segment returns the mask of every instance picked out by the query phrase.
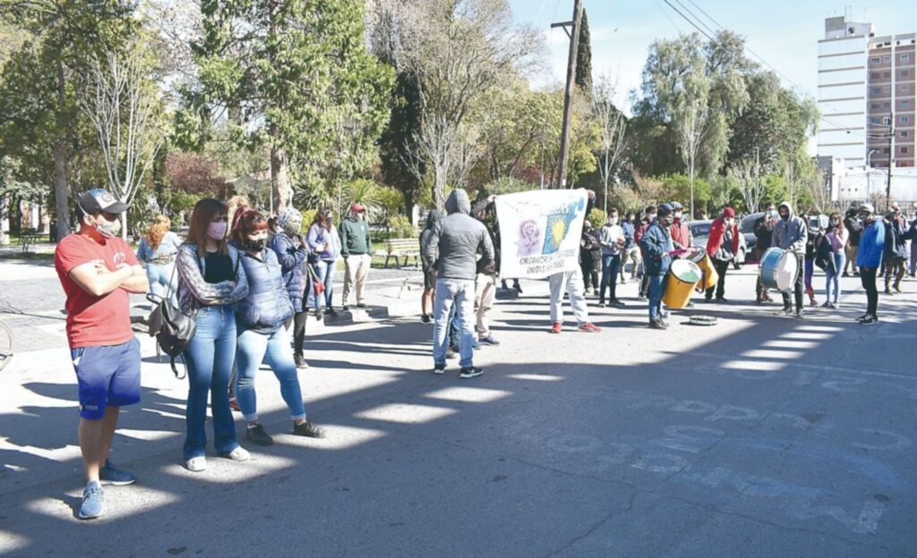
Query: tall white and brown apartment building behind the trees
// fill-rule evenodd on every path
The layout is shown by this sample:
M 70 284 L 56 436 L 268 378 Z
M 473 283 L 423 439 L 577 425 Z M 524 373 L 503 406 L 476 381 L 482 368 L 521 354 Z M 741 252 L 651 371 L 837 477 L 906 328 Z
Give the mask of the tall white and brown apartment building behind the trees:
M 876 37 L 872 24 L 824 20 L 818 41 L 818 155 L 845 159 L 848 168 L 914 166 L 914 34 Z

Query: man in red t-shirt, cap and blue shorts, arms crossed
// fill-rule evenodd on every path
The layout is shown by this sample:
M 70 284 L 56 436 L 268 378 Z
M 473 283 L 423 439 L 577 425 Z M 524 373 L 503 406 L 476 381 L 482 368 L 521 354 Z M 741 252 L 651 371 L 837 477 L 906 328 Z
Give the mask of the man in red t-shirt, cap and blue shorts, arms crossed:
M 122 405 L 140 400 L 140 344 L 130 328 L 131 292 L 149 289 L 130 245 L 117 237 L 127 204 L 94 189 L 77 201 L 80 230 L 54 253 L 67 295 L 67 338 L 80 394 L 80 450 L 86 472 L 80 519 L 105 511 L 102 483 L 129 485 L 137 477 L 108 461 Z

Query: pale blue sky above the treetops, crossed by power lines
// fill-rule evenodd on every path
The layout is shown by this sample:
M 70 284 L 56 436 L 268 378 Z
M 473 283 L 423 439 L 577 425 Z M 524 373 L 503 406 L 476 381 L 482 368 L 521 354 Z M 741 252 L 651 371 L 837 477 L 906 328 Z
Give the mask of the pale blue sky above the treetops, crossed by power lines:
M 669 0 L 679 6 L 675 0 Z M 785 74 L 784 84 L 816 93 L 817 41 L 824 35 L 824 18 L 843 16 L 849 4 L 828 0 L 692 0 L 723 27 L 746 37 L 746 45 Z M 545 29 L 549 68 L 533 84 L 562 83 L 569 42 L 562 29 L 550 29 L 552 21 L 569 20 L 573 0 L 509 0 L 517 21 Z M 680 0 L 695 14 L 700 10 Z M 618 104 L 638 88 L 646 51 L 656 38 L 674 38 L 693 27 L 663 0 L 583 0 L 589 14 L 593 74 L 618 76 Z M 679 6 L 680 9 L 680 6 Z M 917 0 L 873 0 L 852 5 L 851 19 L 871 22 L 877 36 L 917 32 Z M 703 16 L 702 16 L 703 17 Z M 709 20 L 707 25 L 714 27 Z M 714 27 L 715 28 L 715 27 Z M 627 110 L 627 107 L 625 107 Z

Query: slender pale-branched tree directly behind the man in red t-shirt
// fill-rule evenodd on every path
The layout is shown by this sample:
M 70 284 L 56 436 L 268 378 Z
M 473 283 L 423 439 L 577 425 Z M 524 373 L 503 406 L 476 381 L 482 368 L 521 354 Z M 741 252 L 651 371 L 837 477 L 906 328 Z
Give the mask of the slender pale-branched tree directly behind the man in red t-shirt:
M 95 127 L 108 186 L 127 204 L 137 193 L 156 155 L 165 130 L 157 126 L 161 111 L 154 83 L 135 44 L 125 53 L 105 53 L 90 72 L 94 91 L 80 99 L 80 107 Z M 127 213 L 121 213 L 121 235 L 127 239 Z

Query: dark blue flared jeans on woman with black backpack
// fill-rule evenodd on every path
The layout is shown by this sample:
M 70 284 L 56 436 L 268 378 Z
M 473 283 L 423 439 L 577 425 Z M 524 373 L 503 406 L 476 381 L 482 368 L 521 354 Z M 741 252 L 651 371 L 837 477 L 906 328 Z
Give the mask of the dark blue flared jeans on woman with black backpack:
M 197 331 L 184 352 L 188 365 L 188 404 L 184 422 L 184 459 L 204 455 L 207 394 L 214 415 L 214 446 L 226 455 L 238 447 L 236 425 L 229 410 L 229 377 L 236 356 L 236 317 L 229 306 L 204 306 L 197 311 Z

